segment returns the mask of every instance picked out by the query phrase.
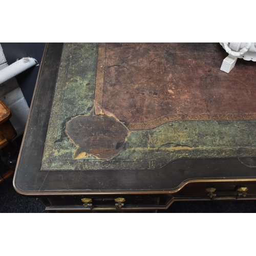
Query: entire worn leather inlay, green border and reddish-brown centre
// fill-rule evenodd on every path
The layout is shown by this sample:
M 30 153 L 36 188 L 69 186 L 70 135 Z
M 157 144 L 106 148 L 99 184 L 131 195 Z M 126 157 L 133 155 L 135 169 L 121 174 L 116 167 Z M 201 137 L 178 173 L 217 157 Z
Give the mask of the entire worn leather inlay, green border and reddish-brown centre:
M 255 156 L 255 63 L 226 74 L 226 55 L 218 44 L 65 44 L 41 169 Z

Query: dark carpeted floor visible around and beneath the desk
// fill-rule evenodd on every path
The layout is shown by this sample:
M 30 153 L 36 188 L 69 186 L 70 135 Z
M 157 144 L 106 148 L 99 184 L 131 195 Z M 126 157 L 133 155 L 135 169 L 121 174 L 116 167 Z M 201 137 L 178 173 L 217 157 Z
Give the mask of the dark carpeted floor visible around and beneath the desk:
M 17 141 L 20 143 L 22 138 Z M 0 160 L 0 175 L 9 168 Z M 0 184 L 0 212 L 46 212 L 36 198 L 19 195 L 12 186 L 12 177 Z M 174 202 L 158 212 L 256 212 L 256 200 Z

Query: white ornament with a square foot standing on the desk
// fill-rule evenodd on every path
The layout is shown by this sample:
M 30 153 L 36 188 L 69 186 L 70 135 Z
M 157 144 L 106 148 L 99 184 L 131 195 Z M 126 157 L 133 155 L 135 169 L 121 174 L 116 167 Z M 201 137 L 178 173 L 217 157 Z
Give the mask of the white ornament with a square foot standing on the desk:
M 223 60 L 221 70 L 229 73 L 236 65 L 238 58 L 256 61 L 256 42 L 220 42 L 228 53 Z

